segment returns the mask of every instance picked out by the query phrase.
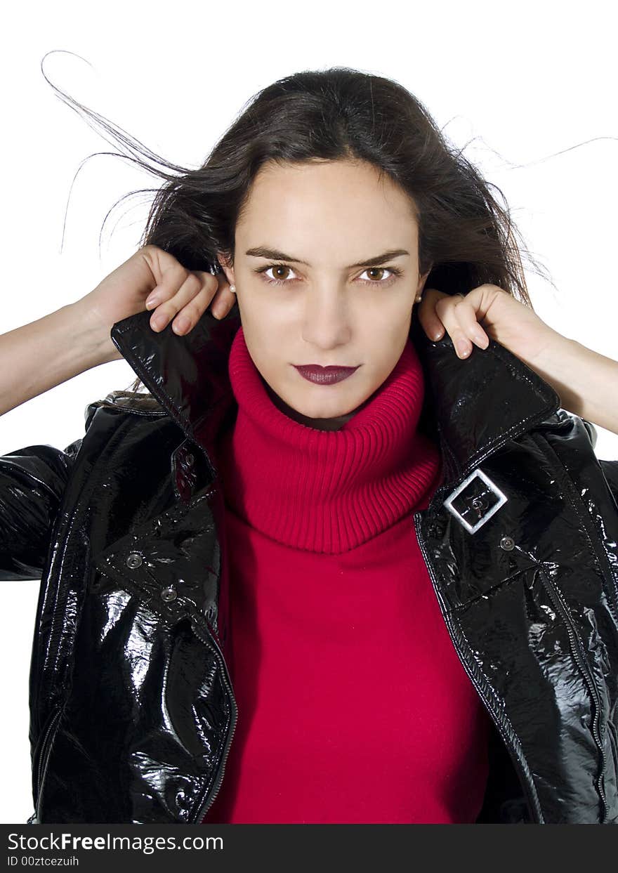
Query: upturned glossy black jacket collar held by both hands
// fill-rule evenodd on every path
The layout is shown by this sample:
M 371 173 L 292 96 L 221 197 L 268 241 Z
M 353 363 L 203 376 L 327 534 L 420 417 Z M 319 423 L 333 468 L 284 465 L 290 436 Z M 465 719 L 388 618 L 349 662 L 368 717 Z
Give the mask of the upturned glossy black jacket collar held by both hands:
M 218 427 L 234 402 L 228 358 L 240 326 L 237 305 L 223 320 L 207 310 L 185 336 L 169 325 L 155 333 L 151 314 L 116 322 L 113 344 L 185 434 L 206 448 L 212 464 Z M 448 334 L 429 340 L 417 319 L 410 337 L 426 384 L 419 427 L 440 444 L 447 485 L 560 408 L 554 389 L 495 340 L 461 360 Z

